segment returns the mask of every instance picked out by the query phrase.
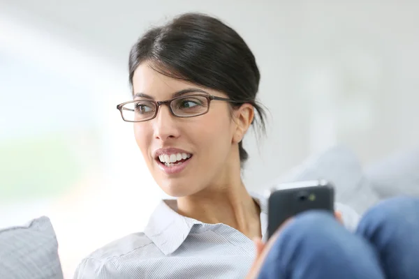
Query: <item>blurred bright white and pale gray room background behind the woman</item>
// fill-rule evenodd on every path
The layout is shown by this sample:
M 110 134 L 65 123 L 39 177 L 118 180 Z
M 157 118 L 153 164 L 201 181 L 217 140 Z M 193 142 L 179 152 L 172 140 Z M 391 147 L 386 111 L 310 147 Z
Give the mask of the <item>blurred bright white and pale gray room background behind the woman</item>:
M 0 227 L 50 217 L 66 278 L 163 197 L 116 105 L 131 45 L 189 11 L 256 56 L 270 117 L 244 140 L 249 190 L 338 143 L 368 164 L 419 142 L 419 1 L 0 0 Z

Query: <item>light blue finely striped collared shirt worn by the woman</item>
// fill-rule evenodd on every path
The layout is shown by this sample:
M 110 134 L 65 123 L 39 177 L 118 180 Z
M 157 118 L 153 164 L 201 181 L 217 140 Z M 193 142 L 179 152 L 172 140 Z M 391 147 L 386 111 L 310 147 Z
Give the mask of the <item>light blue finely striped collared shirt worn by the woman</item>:
M 267 201 L 256 196 L 253 199 L 260 206 L 265 236 Z M 176 207 L 176 200 L 162 201 L 144 232 L 96 250 L 82 260 L 74 278 L 245 278 L 256 255 L 253 241 L 228 225 L 181 216 Z M 354 212 L 344 209 L 342 214 L 349 223 L 355 220 Z

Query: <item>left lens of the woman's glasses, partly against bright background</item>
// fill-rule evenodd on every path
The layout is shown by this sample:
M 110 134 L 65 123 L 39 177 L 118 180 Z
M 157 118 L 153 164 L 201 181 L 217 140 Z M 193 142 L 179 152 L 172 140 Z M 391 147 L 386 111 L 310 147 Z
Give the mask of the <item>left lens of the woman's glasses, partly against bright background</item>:
M 125 104 L 122 115 L 126 121 L 145 121 L 152 119 L 156 113 L 156 105 L 147 100 Z

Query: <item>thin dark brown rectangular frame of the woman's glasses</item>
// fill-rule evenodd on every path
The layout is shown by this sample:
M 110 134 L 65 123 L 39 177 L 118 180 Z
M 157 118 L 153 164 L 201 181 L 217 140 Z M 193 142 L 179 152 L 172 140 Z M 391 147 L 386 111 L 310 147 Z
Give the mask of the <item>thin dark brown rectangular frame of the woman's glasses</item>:
M 171 107 L 170 104 L 174 100 L 178 100 L 178 99 L 181 99 L 181 98 L 187 98 L 187 97 L 204 97 L 204 98 L 206 98 L 208 100 L 207 110 L 205 112 L 203 112 L 203 113 L 192 115 L 192 116 L 178 116 L 178 115 L 176 115 L 175 112 L 173 112 L 172 107 Z M 167 105 L 168 108 L 169 108 L 170 114 L 172 114 L 172 116 L 179 117 L 179 118 L 189 118 L 189 117 L 200 116 L 200 115 L 203 115 L 203 114 L 206 114 L 207 112 L 209 112 L 210 111 L 210 105 L 211 105 L 211 101 L 212 100 L 221 100 L 221 101 L 224 101 L 224 102 L 235 103 L 235 104 L 242 103 L 242 102 L 238 102 L 238 101 L 235 101 L 235 100 L 231 100 L 229 98 L 222 98 L 222 97 L 208 95 L 208 94 L 193 94 L 193 95 L 187 95 L 187 96 L 179 96 L 179 97 L 172 98 L 170 100 L 160 100 L 160 101 L 147 100 L 147 102 L 154 103 L 154 105 L 156 106 L 156 111 L 154 112 L 154 116 L 152 118 L 149 118 L 149 119 L 146 119 L 146 120 L 140 120 L 140 121 L 130 121 L 130 120 L 124 119 L 124 114 L 123 114 L 122 110 L 128 110 L 128 109 L 124 108 L 124 105 L 129 104 L 129 103 L 137 103 L 137 102 L 140 102 L 141 100 L 130 100 L 128 102 L 121 103 L 121 104 L 117 105 L 117 110 L 119 110 L 119 112 L 121 113 L 122 120 L 124 120 L 126 122 L 134 122 L 134 123 L 137 123 L 137 122 L 145 122 L 145 121 L 149 121 L 149 120 L 155 119 L 156 116 L 157 116 L 157 114 L 159 113 L 159 107 L 161 105 Z

